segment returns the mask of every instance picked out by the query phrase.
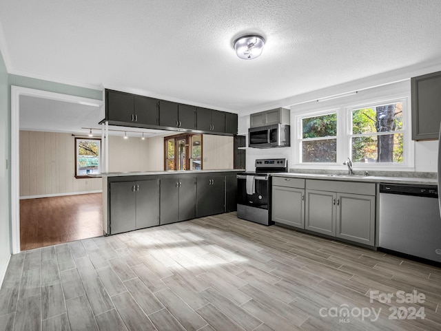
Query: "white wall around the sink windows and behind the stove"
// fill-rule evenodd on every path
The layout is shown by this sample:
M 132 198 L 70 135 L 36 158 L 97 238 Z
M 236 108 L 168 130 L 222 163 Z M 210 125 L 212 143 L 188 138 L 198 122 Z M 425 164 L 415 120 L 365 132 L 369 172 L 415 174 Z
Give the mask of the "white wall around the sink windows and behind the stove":
M 409 97 L 409 109 L 410 111 L 410 95 L 411 87 L 410 80 L 401 81 L 389 85 L 383 85 L 380 87 L 373 87 L 371 89 L 365 89 L 354 96 L 347 96 L 344 98 L 336 98 L 322 103 L 317 101 L 311 101 L 309 103 L 302 103 L 300 105 L 291 106 L 291 147 L 281 149 L 247 149 L 247 170 L 254 170 L 254 161 L 256 158 L 287 158 L 288 166 L 290 169 L 307 169 L 311 166 L 305 166 L 301 164 L 295 164 L 296 145 L 294 142 L 294 135 L 296 134 L 296 122 L 294 117 L 296 114 L 307 114 L 311 111 L 318 111 L 320 109 L 338 109 L 345 105 L 345 107 L 356 106 L 362 103 L 371 102 L 373 100 L 387 100 L 388 98 L 396 98 L 398 96 Z M 239 117 L 239 132 L 240 134 L 247 133 L 249 128 L 249 114 Z M 411 120 L 411 116 L 409 116 Z M 409 122 L 409 133 L 411 130 L 411 123 Z M 248 144 L 248 142 L 247 142 Z M 421 141 L 410 142 L 413 150 L 413 160 L 409 164 L 409 168 L 402 169 L 404 171 L 422 171 L 422 172 L 436 172 L 438 162 L 438 140 L 435 141 Z M 342 162 L 341 162 L 342 163 Z M 321 164 L 315 167 L 320 169 L 338 169 L 345 171 L 346 166 L 338 164 L 332 167 L 326 167 Z M 385 169 L 384 169 L 385 170 Z M 397 169 L 390 169 L 397 170 Z

